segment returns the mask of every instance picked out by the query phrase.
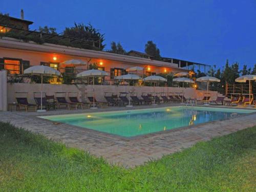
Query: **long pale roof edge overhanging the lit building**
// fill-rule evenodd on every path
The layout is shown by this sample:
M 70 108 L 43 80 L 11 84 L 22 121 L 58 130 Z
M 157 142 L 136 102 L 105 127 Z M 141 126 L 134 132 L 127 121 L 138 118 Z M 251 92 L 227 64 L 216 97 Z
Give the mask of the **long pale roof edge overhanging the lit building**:
M 87 49 L 79 49 L 55 44 L 36 44 L 33 41 L 24 42 L 23 40 L 3 37 L 0 39 L 0 47 L 9 48 L 9 49 L 19 49 L 19 50 L 27 50 L 27 51 L 37 51 L 37 52 L 46 52 L 46 53 L 55 53 L 55 54 L 66 54 L 71 56 L 78 57 L 88 57 L 88 58 L 98 58 L 98 59 L 107 59 L 107 60 L 115 60 L 122 62 L 129 62 L 136 65 L 152 65 L 157 67 L 167 67 L 173 68 L 182 71 L 189 71 L 186 69 L 178 68 L 176 63 L 163 62 L 158 60 L 151 60 L 147 58 L 140 58 L 128 55 L 120 55 L 115 53 L 108 53 L 104 51 L 95 51 L 95 50 L 87 50 Z

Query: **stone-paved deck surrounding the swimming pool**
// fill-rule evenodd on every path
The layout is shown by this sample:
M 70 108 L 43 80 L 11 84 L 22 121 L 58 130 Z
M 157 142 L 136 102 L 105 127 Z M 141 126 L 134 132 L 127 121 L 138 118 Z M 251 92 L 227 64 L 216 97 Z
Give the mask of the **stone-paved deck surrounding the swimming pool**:
M 254 109 L 254 113 L 244 114 L 237 118 L 190 125 L 176 130 L 157 132 L 129 139 L 94 130 L 82 129 L 69 124 L 56 124 L 47 119 L 37 117 L 44 115 L 159 108 L 165 106 L 175 105 L 134 106 L 129 109 L 125 107 L 110 107 L 96 110 L 57 110 L 42 113 L 0 112 L 0 118 L 1 121 L 10 122 L 15 126 L 24 127 L 26 130 L 44 134 L 50 139 L 63 142 L 70 147 L 78 147 L 82 150 L 89 151 L 95 156 L 102 156 L 109 163 L 124 167 L 141 165 L 148 160 L 159 159 L 163 155 L 190 147 L 198 141 L 207 141 L 214 137 L 227 135 L 256 125 L 256 110 Z

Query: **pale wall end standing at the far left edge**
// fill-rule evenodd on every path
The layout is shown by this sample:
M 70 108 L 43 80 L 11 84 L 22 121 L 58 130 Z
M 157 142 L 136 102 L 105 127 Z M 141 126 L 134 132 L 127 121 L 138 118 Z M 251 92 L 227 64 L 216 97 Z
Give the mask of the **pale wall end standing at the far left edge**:
M 0 71 L 0 111 L 7 111 L 7 71 Z

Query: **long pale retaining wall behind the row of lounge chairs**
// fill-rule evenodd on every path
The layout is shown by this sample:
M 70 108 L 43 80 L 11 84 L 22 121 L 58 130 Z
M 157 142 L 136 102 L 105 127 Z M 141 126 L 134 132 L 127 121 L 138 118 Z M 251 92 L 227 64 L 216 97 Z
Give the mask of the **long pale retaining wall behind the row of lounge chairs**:
M 15 102 L 15 97 L 28 97 L 29 102 L 34 103 L 34 92 L 40 92 L 41 84 L 35 83 L 7 83 L 7 92 L 8 92 L 8 103 Z M 129 89 L 134 94 L 137 93 L 138 96 L 141 93 L 149 93 L 149 92 L 158 92 L 158 93 L 176 93 L 182 92 L 182 88 L 174 88 L 174 87 L 133 87 L 131 86 L 101 86 L 95 85 L 95 96 L 98 101 L 105 101 L 104 93 L 105 92 L 113 92 L 119 95 L 119 92 L 128 92 Z M 15 93 L 15 92 L 28 92 L 26 93 Z M 92 85 L 68 85 L 68 84 L 43 84 L 43 92 L 48 95 L 65 95 L 56 92 L 75 92 L 78 93 L 78 97 L 82 101 L 87 100 L 87 96 L 93 96 L 93 86 Z M 206 91 L 196 90 L 194 88 L 184 88 L 184 96 L 186 98 L 197 98 L 201 99 L 204 96 Z M 209 92 L 212 98 L 217 96 L 217 92 Z M 71 93 L 70 95 L 75 95 Z M 36 93 L 36 96 L 40 96 L 39 93 Z

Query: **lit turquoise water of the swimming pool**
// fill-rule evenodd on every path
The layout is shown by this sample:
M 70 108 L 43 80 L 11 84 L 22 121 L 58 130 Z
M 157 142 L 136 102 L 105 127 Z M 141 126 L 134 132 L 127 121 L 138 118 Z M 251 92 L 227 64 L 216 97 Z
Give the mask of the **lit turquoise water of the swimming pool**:
M 123 137 L 133 137 L 228 119 L 251 112 L 253 111 L 243 109 L 172 106 L 144 110 L 41 116 L 40 118 Z

